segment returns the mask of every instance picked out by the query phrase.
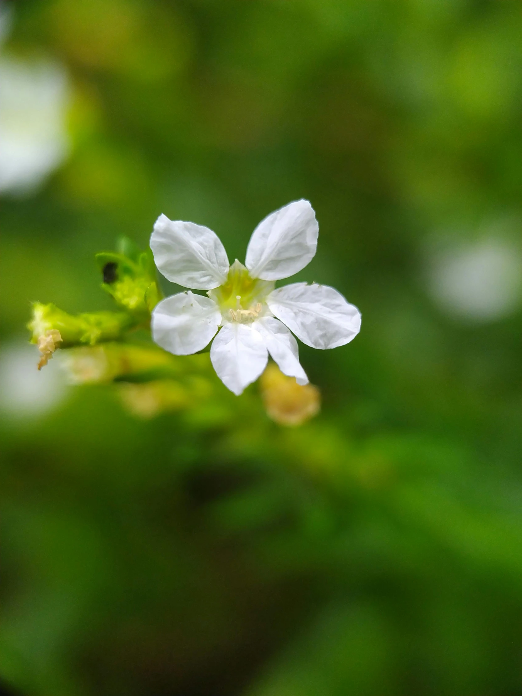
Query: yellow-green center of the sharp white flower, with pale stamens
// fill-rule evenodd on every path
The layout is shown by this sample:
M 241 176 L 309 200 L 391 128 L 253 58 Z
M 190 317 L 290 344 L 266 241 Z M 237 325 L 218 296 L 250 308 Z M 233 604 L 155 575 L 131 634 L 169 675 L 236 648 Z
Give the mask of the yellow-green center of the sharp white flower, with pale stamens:
M 251 278 L 248 269 L 236 259 L 225 283 L 207 294 L 219 304 L 223 319 L 246 323 L 253 322 L 262 314 L 266 307 L 264 300 L 272 290 L 274 283 Z

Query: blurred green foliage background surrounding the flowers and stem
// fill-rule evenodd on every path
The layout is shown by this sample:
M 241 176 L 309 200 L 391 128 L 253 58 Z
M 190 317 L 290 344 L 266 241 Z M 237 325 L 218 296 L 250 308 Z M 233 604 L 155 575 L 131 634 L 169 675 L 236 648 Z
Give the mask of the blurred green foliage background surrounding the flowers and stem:
M 521 694 L 522 314 L 451 317 L 423 275 L 438 230 L 519 235 L 520 3 L 15 5 L 4 50 L 65 64 L 73 146 L 2 199 L 3 342 L 29 300 L 111 309 L 94 254 L 145 248 L 161 212 L 243 260 L 296 198 L 320 228 L 296 279 L 363 329 L 300 347 L 323 409 L 296 429 L 255 386 L 219 418 L 134 420 L 102 387 L 3 418 L 0 676 L 27 696 Z

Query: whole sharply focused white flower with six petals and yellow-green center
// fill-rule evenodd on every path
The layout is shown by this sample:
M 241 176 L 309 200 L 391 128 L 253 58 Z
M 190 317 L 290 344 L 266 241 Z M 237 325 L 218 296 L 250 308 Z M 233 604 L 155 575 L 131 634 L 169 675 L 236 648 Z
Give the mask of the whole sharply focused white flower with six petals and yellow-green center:
M 294 283 L 274 290 L 274 281 L 313 259 L 318 234 L 312 206 L 296 200 L 255 228 L 245 266 L 238 260 L 230 266 L 212 230 L 160 215 L 150 237 L 159 271 L 173 283 L 208 292 L 162 300 L 152 313 L 155 342 L 175 355 L 189 355 L 203 350 L 219 330 L 210 359 L 237 395 L 258 379 L 268 354 L 297 383 L 308 383 L 289 329 L 306 345 L 325 349 L 345 345 L 361 328 L 358 309 L 333 287 Z

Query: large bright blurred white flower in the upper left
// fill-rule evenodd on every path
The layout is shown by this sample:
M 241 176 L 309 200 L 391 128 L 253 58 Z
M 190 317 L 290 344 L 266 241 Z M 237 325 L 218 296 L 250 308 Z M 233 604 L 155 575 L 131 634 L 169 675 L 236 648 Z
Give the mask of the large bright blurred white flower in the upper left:
M 11 17 L 0 5 L 0 44 Z M 65 159 L 67 106 L 60 65 L 0 57 L 0 193 L 31 191 Z

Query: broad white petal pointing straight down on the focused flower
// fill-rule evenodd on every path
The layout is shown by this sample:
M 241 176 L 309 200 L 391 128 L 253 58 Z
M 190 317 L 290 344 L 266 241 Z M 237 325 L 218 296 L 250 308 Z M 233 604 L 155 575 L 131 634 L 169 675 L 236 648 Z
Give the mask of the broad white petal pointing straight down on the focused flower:
M 268 353 L 259 331 L 230 322 L 214 338 L 210 359 L 219 379 L 239 396 L 267 366 Z

